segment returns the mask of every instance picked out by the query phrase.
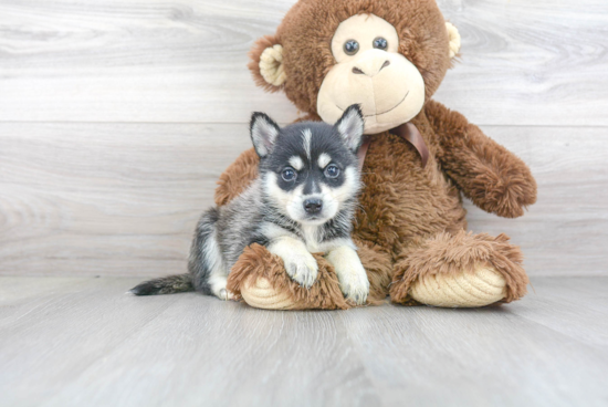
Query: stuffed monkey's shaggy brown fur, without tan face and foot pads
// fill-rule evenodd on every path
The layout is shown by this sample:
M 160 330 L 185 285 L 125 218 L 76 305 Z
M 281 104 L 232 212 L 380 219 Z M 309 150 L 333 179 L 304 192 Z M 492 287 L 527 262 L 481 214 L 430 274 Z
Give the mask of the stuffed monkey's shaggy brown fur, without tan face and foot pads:
M 300 109 L 318 119 L 317 93 L 335 63 L 332 35 L 343 20 L 357 13 L 374 13 L 392 23 L 400 39 L 399 52 L 421 72 L 427 103 L 411 122 L 430 150 L 422 168 L 419 154 L 408 143 L 388 132 L 371 136 L 354 230 L 371 302 L 381 301 L 390 291 L 395 302 L 412 304 L 408 290 L 420 275 L 469 272 L 474 264 L 489 264 L 505 276 L 505 302 L 521 298 L 527 276 L 518 248 L 504 234 L 465 233 L 461 196 L 486 211 L 514 218 L 536 200 L 536 182 L 521 159 L 459 113 L 430 100 L 450 66 L 444 20 L 433 0 L 301 0 L 276 35 L 254 45 L 250 67 L 256 83 L 269 90 L 256 67 L 258 59 L 269 44 L 282 44 L 287 75 L 283 90 Z M 256 164 L 258 157 L 249 150 L 227 169 L 216 194 L 218 205 L 249 185 Z M 298 307 L 346 307 L 331 265 L 318 259 L 323 272 L 306 292 L 258 247 L 241 257 L 229 289 L 239 292 L 247 279 L 266 275 L 276 288 L 292 293 Z

